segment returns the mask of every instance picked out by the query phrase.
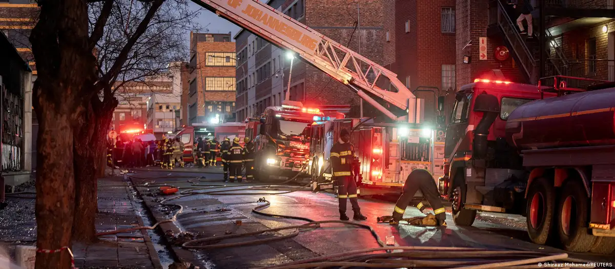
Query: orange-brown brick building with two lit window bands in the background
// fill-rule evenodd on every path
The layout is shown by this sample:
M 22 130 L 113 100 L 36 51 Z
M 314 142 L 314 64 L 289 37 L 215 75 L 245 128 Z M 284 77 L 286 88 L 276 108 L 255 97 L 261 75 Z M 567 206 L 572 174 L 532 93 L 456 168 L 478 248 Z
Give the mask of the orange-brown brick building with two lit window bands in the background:
M 231 34 L 190 34 L 188 124 L 234 121 L 235 43 Z

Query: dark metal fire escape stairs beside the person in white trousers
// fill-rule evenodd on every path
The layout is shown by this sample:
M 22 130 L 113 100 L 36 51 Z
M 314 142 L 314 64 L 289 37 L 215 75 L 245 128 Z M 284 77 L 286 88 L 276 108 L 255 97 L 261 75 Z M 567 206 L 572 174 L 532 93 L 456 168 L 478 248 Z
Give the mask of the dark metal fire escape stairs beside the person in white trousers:
M 528 82 L 531 84 L 538 84 L 540 74 L 538 32 L 534 31 L 535 42 L 526 41 L 526 36 L 520 34 L 518 31 L 517 18 L 509 14 L 509 10 L 511 10 L 512 7 L 509 9 L 509 7 L 507 7 L 508 5 L 504 4 L 501 0 L 491 1 L 490 4 L 492 5 L 490 7 L 490 25 L 499 29 L 507 47 L 514 53 L 515 60 L 520 70 L 523 72 L 523 75 L 528 79 Z M 526 6 L 529 5 L 526 4 Z M 537 29 L 537 27 L 534 27 L 534 29 Z M 548 29 L 545 34 L 547 37 L 547 44 L 553 44 L 552 47 L 557 55 L 557 58 L 550 57 L 550 62 L 552 64 L 550 66 L 552 66 L 553 69 L 547 71 L 547 73 L 562 75 L 564 73 L 563 68 L 568 66 L 568 61 L 560 49 L 561 44 L 557 42 Z M 549 49 L 549 46 L 547 46 L 547 49 Z M 547 52 L 547 55 L 551 54 L 550 51 Z

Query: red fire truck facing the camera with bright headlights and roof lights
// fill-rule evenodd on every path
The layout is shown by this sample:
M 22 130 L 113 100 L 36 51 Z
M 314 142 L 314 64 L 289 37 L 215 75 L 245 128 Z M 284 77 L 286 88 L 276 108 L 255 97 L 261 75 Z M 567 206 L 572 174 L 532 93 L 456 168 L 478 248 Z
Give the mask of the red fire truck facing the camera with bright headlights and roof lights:
M 308 171 L 310 127 L 330 119 L 317 108 L 301 102 L 284 101 L 270 106 L 258 119 L 247 119 L 245 136 L 255 147 L 255 173 L 259 179 L 286 179 Z

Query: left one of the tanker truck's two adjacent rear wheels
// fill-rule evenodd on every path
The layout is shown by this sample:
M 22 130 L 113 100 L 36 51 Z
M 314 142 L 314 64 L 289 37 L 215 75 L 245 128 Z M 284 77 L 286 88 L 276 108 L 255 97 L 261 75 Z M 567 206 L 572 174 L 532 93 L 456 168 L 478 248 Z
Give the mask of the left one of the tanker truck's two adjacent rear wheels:
M 528 235 L 532 242 L 545 244 L 554 234 L 555 188 L 544 177 L 531 182 L 526 206 Z

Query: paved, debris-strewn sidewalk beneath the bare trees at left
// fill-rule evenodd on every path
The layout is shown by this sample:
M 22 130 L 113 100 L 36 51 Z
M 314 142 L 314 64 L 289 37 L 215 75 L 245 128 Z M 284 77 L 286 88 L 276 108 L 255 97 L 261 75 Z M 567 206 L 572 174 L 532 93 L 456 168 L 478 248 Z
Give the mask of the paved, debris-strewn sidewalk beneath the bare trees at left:
M 108 177 L 98 181 L 97 232 L 119 230 L 143 225 L 138 209 L 132 205 L 132 194 L 123 177 Z M 31 187 L 28 191 L 33 191 Z M 33 197 L 33 195 L 24 195 Z M 15 262 L 15 246 L 36 244 L 34 199 L 7 197 L 9 206 L 0 211 L 0 255 Z M 89 246 L 73 244 L 75 266 L 78 268 L 162 268 L 156 250 L 143 231 L 101 236 Z

